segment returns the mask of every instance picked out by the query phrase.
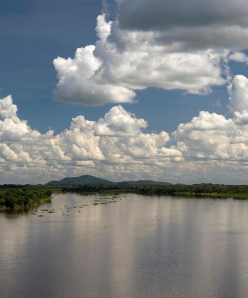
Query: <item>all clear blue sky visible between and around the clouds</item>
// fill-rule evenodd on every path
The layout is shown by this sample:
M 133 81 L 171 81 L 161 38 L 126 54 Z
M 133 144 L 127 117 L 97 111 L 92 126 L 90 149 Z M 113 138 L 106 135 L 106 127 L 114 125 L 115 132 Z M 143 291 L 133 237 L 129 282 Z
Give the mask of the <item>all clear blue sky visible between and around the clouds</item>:
M 0 3 L 0 96 L 12 94 L 20 118 L 41 132 L 51 127 L 59 133 L 78 114 L 97 120 L 113 106 L 83 107 L 53 99 L 57 83 L 53 59 L 73 57 L 76 48 L 95 43 L 96 17 L 101 10 L 100 0 Z M 234 70 L 247 73 L 241 64 Z M 216 100 L 221 107 L 214 106 Z M 149 131 L 172 132 L 201 110 L 227 113 L 227 102 L 226 86 L 214 88 L 207 96 L 148 88 L 137 93 L 137 103 L 124 107 L 146 119 Z

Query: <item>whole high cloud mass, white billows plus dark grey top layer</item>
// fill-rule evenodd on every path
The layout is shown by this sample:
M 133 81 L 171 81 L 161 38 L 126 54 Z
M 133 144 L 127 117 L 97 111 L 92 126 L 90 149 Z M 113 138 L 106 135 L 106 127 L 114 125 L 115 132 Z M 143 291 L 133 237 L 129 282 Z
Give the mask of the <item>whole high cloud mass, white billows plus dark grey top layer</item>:
M 54 60 L 55 98 L 83 105 L 132 102 L 147 87 L 206 94 L 229 81 L 228 58 L 248 63 L 246 0 L 117 0 L 97 17 L 95 45 Z

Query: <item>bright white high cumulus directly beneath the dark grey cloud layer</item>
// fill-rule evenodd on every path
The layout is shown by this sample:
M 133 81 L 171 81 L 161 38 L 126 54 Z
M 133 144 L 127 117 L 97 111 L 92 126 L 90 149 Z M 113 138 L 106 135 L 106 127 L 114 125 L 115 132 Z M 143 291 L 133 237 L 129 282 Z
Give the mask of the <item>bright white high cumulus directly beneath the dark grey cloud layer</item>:
M 96 44 L 78 48 L 74 58 L 54 60 L 59 80 L 55 98 L 94 106 L 133 102 L 135 90 L 147 87 L 206 94 L 211 86 L 225 83 L 223 63 L 232 49 L 230 45 L 223 44 L 216 50 L 210 42 L 212 28 L 204 37 L 199 28 L 191 33 L 170 30 L 126 30 L 119 25 L 119 18 L 107 21 L 105 14 L 99 15 Z M 238 33 L 232 35 L 237 37 Z M 220 32 L 216 41 L 222 36 Z M 209 40 L 208 46 L 192 50 L 199 39 Z M 233 44 L 239 48 L 237 41 Z

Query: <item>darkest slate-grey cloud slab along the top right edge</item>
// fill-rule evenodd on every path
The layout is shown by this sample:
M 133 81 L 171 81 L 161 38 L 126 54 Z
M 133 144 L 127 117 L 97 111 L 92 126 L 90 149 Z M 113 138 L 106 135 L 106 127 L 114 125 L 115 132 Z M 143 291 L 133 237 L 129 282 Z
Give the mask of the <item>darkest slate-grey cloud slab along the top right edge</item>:
M 117 0 L 122 27 L 165 30 L 203 25 L 248 25 L 246 0 Z

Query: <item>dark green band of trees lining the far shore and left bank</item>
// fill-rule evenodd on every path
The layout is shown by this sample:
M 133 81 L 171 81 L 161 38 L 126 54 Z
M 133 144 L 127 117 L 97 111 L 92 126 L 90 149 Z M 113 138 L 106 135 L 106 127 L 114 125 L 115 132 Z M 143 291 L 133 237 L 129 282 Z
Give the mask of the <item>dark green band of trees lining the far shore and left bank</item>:
M 27 207 L 51 200 L 53 190 L 63 192 L 131 192 L 154 195 L 210 195 L 248 199 L 248 185 L 175 184 L 175 185 L 0 185 L 0 210 Z

